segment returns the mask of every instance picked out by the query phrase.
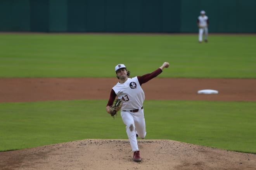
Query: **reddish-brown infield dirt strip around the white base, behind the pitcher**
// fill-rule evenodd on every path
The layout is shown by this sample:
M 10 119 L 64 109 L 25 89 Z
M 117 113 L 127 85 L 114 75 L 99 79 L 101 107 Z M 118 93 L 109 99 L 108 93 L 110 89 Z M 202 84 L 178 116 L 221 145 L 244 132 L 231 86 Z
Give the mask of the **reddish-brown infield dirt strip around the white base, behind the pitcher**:
M 117 78 L 0 78 L 0 102 L 108 99 Z M 142 85 L 146 99 L 256 101 L 256 79 L 155 78 Z M 198 90 L 218 94 L 197 94 Z

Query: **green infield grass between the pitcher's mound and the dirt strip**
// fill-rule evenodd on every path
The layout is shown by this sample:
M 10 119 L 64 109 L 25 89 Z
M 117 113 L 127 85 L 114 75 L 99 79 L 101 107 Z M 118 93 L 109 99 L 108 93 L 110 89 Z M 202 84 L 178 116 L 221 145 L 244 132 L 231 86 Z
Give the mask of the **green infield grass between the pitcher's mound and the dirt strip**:
M 120 115 L 112 119 L 105 111 L 106 103 L 0 103 L 0 151 L 80 139 L 127 139 Z M 146 100 L 146 139 L 256 153 L 255 108 L 256 102 Z

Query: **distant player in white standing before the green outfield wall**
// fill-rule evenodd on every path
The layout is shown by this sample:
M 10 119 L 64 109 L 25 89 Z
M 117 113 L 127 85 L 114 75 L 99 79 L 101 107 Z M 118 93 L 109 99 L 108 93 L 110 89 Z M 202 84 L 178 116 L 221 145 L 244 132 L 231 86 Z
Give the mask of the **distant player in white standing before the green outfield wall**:
M 203 34 L 204 34 L 204 41 L 208 42 L 208 25 L 209 25 L 209 19 L 205 15 L 205 11 L 202 10 L 200 12 L 200 16 L 197 18 L 197 25 L 199 27 L 199 43 L 202 42 Z

